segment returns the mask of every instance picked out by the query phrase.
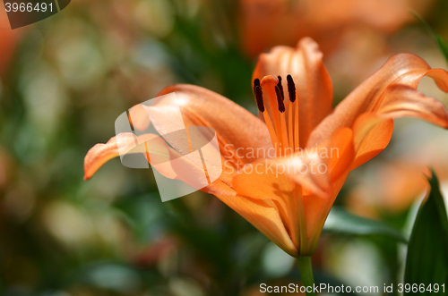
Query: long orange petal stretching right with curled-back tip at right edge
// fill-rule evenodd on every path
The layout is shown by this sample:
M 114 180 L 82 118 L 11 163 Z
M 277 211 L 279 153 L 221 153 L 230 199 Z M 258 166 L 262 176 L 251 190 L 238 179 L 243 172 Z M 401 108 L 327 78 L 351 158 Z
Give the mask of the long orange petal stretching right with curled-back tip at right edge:
M 352 127 L 358 116 L 365 113 L 379 114 L 383 118 L 414 116 L 446 127 L 444 106 L 434 98 L 425 97 L 415 90 L 424 76 L 433 78 L 440 89 L 448 91 L 446 71 L 431 70 L 417 55 L 393 55 L 315 128 L 307 146 L 312 147 L 322 142 L 341 127 Z M 372 139 L 377 138 L 372 134 L 371 136 Z M 390 135 L 383 132 L 382 138 L 384 137 L 390 138 Z

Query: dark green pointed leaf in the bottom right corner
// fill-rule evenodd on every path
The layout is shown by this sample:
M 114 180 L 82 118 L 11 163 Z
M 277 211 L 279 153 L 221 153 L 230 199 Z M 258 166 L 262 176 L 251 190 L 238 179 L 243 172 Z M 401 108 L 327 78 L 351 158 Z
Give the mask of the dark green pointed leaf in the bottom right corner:
M 448 283 L 448 217 L 434 172 L 429 184 L 409 239 L 404 283 L 411 285 Z

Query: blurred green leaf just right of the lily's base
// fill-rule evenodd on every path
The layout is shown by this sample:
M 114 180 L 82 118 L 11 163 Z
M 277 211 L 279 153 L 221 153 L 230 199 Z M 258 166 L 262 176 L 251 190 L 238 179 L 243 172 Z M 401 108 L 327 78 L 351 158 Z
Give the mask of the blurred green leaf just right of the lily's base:
M 392 226 L 380 221 L 355 216 L 341 207 L 332 208 L 323 226 L 323 232 L 349 235 L 385 235 L 397 241 L 408 242 Z

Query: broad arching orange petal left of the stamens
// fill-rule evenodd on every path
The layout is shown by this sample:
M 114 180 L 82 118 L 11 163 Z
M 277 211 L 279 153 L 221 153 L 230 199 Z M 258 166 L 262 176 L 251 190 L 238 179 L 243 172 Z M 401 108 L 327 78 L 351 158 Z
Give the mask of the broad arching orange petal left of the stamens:
M 272 148 L 266 124 L 228 98 L 211 90 L 186 84 L 169 86 L 159 96 L 172 92 L 176 93 L 176 102 L 172 97 L 158 97 L 158 101 L 147 107 L 151 123 L 161 134 L 161 131 L 172 125 L 170 117 L 177 112 L 173 106 L 179 106 L 186 127 L 207 126 L 216 131 L 221 155 L 227 160 L 233 159 L 234 164 L 248 164 L 259 158 L 256 154 L 249 154 L 250 150 Z M 175 140 L 166 140 L 177 149 Z

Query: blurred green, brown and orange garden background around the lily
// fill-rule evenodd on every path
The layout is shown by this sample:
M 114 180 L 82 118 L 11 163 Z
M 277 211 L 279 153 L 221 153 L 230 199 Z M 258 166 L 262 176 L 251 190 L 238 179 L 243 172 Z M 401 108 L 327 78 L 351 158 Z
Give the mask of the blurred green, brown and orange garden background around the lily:
M 18 30 L 7 29 L 2 5 L 6 296 L 255 296 L 260 283 L 299 283 L 294 258 L 219 199 L 195 192 L 162 203 L 151 170 L 119 159 L 84 182 L 83 157 L 115 135 L 119 114 L 173 83 L 200 85 L 256 113 L 257 55 L 301 37 L 320 44 L 335 104 L 395 53 L 447 66 L 409 13 L 448 38 L 444 0 L 73 0 Z M 448 106 L 432 80 L 419 89 Z M 414 119 L 395 123 L 390 146 L 350 173 L 337 204 L 409 233 L 428 165 L 448 191 L 448 133 Z M 381 237 L 324 234 L 316 281 L 398 283 L 404 255 Z

